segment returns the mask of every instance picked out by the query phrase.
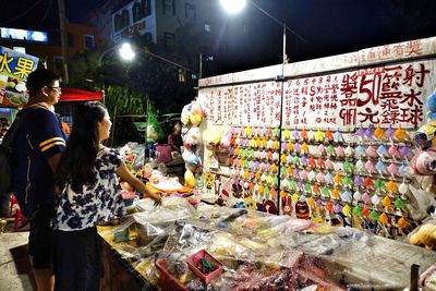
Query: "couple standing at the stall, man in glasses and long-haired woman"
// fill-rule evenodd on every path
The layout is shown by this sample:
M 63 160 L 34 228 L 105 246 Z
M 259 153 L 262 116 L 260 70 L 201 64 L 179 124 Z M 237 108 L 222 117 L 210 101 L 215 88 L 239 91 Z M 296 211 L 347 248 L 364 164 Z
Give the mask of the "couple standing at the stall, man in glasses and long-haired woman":
M 29 255 L 37 290 L 99 290 L 102 264 L 97 225 L 122 215 L 120 181 L 160 204 L 102 145 L 111 121 L 105 106 L 76 108 L 69 137 L 52 111 L 60 77 L 38 69 L 27 77 L 28 102 L 13 142 L 12 192 L 29 220 Z M 13 126 L 12 124 L 11 126 Z

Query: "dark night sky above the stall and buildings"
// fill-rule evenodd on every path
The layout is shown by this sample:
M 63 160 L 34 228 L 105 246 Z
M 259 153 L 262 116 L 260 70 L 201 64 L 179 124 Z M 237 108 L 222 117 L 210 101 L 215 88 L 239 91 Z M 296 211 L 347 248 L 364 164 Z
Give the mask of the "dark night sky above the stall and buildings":
M 179 1 L 179 0 L 177 0 Z M 204 0 L 218 1 L 218 0 Z M 70 22 L 83 22 L 106 0 L 65 0 Z M 346 53 L 363 48 L 436 35 L 434 0 L 255 0 L 299 34 L 288 32 L 287 53 L 291 62 Z M 57 0 L 0 0 L 0 26 L 58 31 Z M 223 17 L 229 17 L 220 11 Z M 257 21 L 253 41 L 259 53 L 240 66 L 245 70 L 280 63 L 281 27 L 253 7 Z M 233 15 L 232 17 L 238 17 Z M 242 15 L 243 16 L 243 15 Z M 257 29 L 258 28 L 258 29 Z M 256 39 L 258 38 L 258 39 Z M 274 45 L 271 45 L 274 44 Z

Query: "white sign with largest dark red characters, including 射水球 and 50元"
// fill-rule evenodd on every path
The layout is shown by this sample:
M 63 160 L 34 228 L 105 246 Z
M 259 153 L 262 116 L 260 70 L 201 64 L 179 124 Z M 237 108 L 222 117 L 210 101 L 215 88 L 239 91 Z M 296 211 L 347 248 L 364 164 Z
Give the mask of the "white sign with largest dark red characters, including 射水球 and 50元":
M 356 124 L 420 126 L 425 121 L 425 99 L 434 89 L 433 72 L 431 61 L 359 71 Z M 348 86 L 344 81 L 341 92 Z

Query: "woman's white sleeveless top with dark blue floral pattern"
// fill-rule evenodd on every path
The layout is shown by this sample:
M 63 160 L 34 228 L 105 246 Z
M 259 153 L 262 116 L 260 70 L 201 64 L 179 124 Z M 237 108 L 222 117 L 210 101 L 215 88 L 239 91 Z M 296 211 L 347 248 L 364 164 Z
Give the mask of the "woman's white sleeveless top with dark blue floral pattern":
M 124 204 L 116 171 L 121 162 L 117 149 L 105 147 L 95 162 L 97 182 L 94 185 L 83 185 L 80 193 L 74 192 L 69 184 L 63 189 L 52 228 L 62 231 L 82 230 L 120 217 Z

